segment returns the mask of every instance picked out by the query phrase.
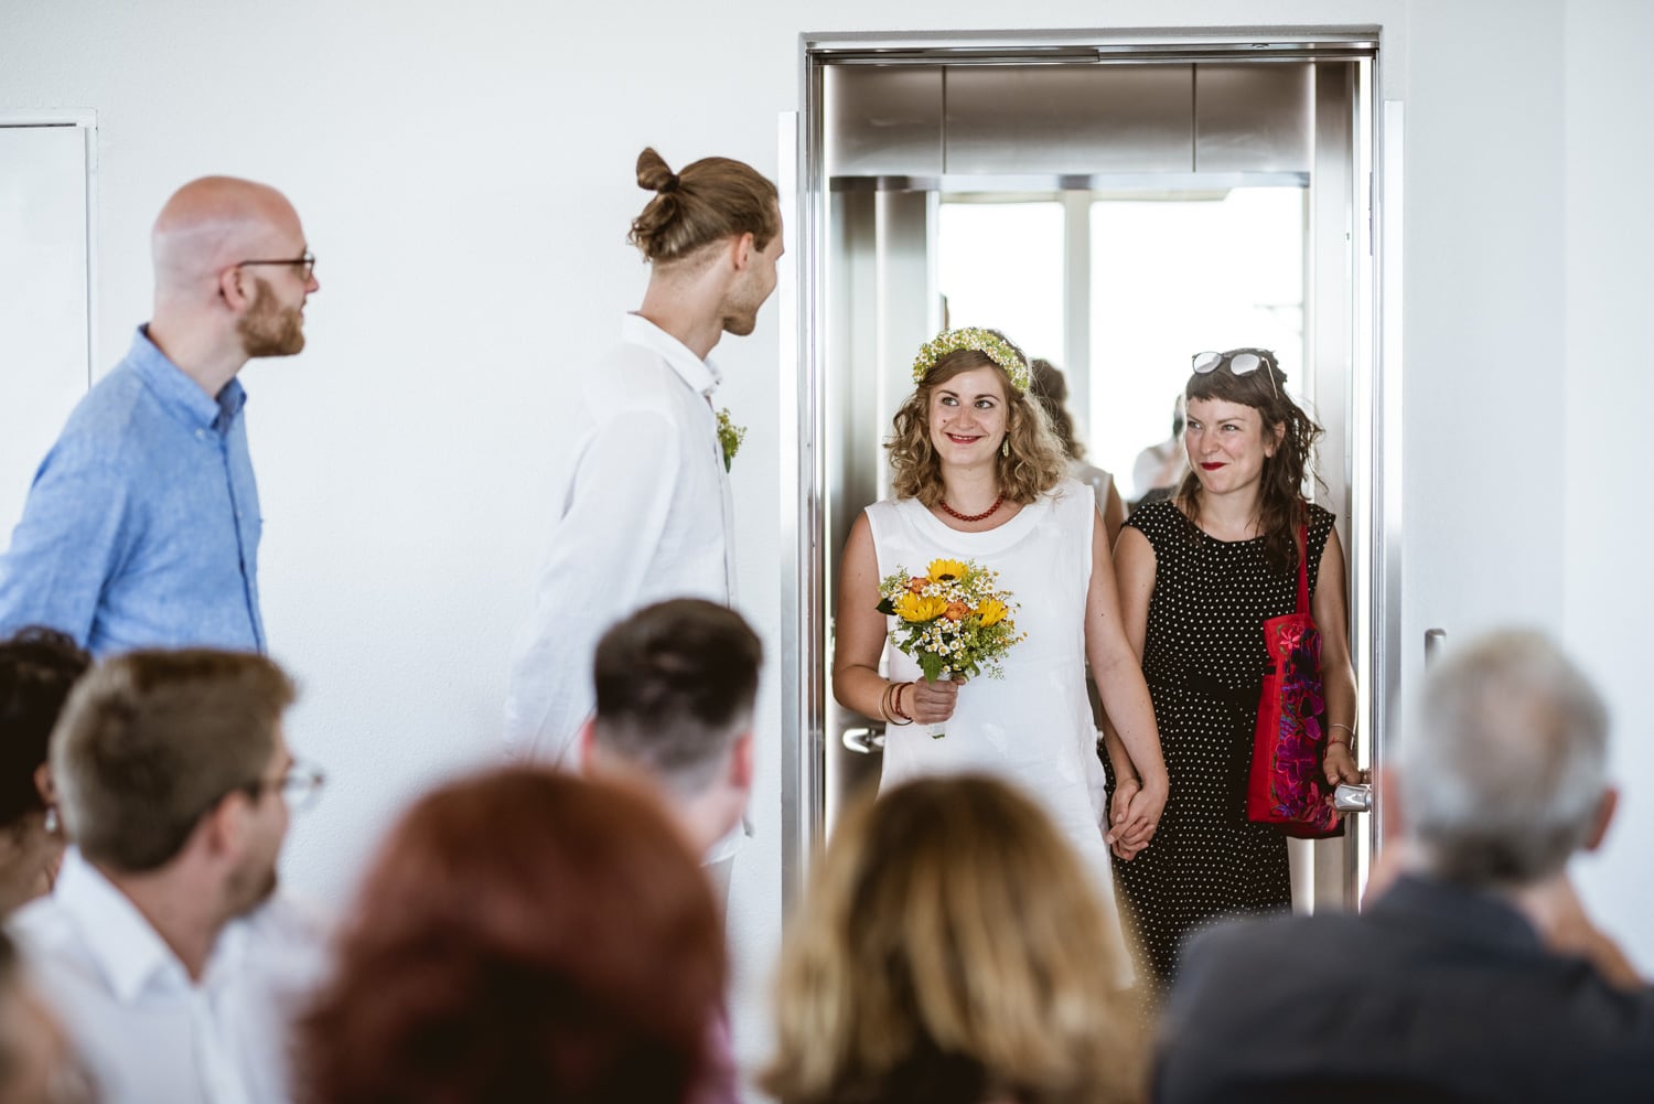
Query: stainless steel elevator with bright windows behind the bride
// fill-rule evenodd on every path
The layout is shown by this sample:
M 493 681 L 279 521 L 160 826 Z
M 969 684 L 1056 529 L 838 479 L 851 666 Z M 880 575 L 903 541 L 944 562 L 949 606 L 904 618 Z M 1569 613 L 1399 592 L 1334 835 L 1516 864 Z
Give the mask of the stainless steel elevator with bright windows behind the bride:
M 1130 65 L 1103 78 L 1090 76 L 1097 66 L 1014 61 L 822 68 L 817 122 L 825 121 L 825 132 L 817 132 L 814 162 L 820 225 L 810 238 L 820 278 L 807 305 L 817 324 L 805 351 L 819 369 L 801 401 L 820 415 L 824 482 L 801 492 L 824 503 L 825 609 L 817 611 L 814 647 L 829 692 L 814 723 L 825 793 L 814 798 L 830 828 L 842 803 L 878 771 L 877 751 L 847 750 L 840 738 L 845 730 L 877 733 L 877 725 L 830 700 L 839 551 L 855 515 L 888 487 L 882 442 L 890 415 L 911 387 L 913 351 L 944 323 L 997 324 L 1029 354 L 1068 371 L 1070 410 L 1092 458 L 1115 470 L 1126 493 L 1135 490 L 1128 457 L 1166 437 L 1189 354 L 1275 348 L 1292 389 L 1328 430 L 1322 485 L 1310 490 L 1340 516 L 1346 554 L 1363 546 L 1368 520 L 1353 516 L 1351 442 L 1353 427 L 1371 417 L 1353 379 L 1371 333 L 1363 329 L 1371 303 L 1360 295 L 1370 263 L 1363 157 L 1371 149 L 1360 132 L 1370 119 L 1361 60 Z M 1120 101 L 1085 103 L 1077 88 L 1093 99 L 1115 88 Z M 1090 127 L 1090 159 L 1072 132 L 1057 149 L 1050 132 L 1064 113 Z M 805 141 L 809 134 L 807 126 Z M 1186 157 L 1168 152 L 1179 142 Z M 1009 228 L 973 248 L 973 220 Z M 1019 242 L 1017 233 L 1047 237 Z M 1016 311 L 999 311 L 1027 318 L 1022 324 L 1037 338 L 1024 339 L 994 316 L 996 296 L 1009 295 L 994 280 L 966 288 L 981 275 L 971 271 L 976 252 L 991 258 L 982 265 L 999 288 L 1017 280 L 1039 288 Z M 1159 275 L 1148 288 L 1151 270 Z M 1194 285 L 1206 290 L 1193 295 Z M 1179 288 L 1183 311 L 1164 301 Z M 1045 295 L 1060 301 L 1045 303 Z M 1153 316 L 1146 305 L 1156 306 Z M 1125 402 L 1126 391 L 1158 399 Z M 1141 410 L 1126 417 L 1118 407 Z M 1358 662 L 1370 624 L 1363 601 L 1356 594 L 1351 602 Z M 1371 717 L 1368 687 L 1361 694 L 1363 717 Z M 1305 847 L 1295 856 L 1295 895 L 1351 904 L 1355 859 L 1370 846 L 1363 828 Z

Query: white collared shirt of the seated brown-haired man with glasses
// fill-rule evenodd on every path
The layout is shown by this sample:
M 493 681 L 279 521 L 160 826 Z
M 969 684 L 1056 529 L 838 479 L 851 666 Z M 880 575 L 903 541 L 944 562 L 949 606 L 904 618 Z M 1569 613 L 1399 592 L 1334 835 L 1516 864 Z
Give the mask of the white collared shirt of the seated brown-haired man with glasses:
M 69 849 L 12 920 L 30 978 L 103 1104 L 284 1104 L 289 1026 L 326 962 L 324 924 L 280 894 L 232 920 L 200 983 L 132 902 Z

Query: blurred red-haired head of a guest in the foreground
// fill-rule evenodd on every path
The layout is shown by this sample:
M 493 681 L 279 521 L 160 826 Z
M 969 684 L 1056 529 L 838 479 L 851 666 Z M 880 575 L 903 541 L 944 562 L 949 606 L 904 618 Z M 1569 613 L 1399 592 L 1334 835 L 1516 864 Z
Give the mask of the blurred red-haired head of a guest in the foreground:
M 723 925 L 645 794 L 508 768 L 418 801 L 304 1025 L 313 1104 L 680 1104 L 705 1076 Z

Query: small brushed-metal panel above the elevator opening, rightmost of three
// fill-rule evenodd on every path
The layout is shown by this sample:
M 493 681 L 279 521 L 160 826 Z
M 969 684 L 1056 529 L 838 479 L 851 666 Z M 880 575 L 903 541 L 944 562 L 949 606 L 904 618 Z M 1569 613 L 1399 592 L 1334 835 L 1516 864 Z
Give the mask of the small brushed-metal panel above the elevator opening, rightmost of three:
M 1199 172 L 1308 172 L 1315 66 L 1194 66 Z

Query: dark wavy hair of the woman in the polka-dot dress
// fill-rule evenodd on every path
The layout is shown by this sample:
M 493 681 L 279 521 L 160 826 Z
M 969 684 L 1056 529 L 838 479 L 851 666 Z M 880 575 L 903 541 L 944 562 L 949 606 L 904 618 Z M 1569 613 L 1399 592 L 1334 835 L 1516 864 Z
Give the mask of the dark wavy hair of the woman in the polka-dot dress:
M 1229 359 L 1239 353 L 1255 353 L 1264 362 L 1250 372 L 1236 376 L 1229 371 Z M 1262 417 L 1265 435 L 1280 427 L 1280 445 L 1272 457 L 1264 458 L 1264 472 L 1259 477 L 1262 492 L 1257 506 L 1259 530 L 1264 533 L 1270 569 L 1277 574 L 1297 571 L 1298 541 L 1293 533 L 1310 516 L 1303 498 L 1303 480 L 1312 470 L 1322 427 L 1287 394 L 1287 372 L 1280 371 L 1275 354 L 1269 349 L 1231 349 L 1224 353 L 1224 362 L 1216 371 L 1193 372 L 1183 396 L 1186 409 L 1196 399 L 1249 406 Z M 1178 487 L 1176 503 L 1191 521 L 1201 520 L 1201 480 L 1193 467 Z

